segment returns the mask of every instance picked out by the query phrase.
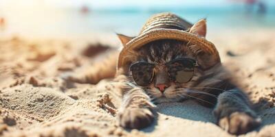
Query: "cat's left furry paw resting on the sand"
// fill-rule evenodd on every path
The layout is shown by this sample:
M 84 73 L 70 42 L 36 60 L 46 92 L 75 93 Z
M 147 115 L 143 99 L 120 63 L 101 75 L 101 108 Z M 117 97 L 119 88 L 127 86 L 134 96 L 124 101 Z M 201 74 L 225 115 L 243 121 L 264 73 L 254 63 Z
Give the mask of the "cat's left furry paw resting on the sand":
M 128 108 L 118 114 L 120 126 L 130 129 L 141 129 L 153 122 L 154 115 L 148 108 Z

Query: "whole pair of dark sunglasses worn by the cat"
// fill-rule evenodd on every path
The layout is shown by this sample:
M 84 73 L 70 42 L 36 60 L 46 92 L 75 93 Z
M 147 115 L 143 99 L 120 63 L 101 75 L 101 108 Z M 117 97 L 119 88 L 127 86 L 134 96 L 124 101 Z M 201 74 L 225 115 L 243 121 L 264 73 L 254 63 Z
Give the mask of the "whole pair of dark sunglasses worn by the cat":
M 165 64 L 151 64 L 148 62 L 135 62 L 131 64 L 130 71 L 135 83 L 139 86 L 151 84 L 155 75 L 155 66 L 166 66 L 166 72 L 170 80 L 177 83 L 190 82 L 195 73 L 195 68 L 199 66 L 196 60 L 191 58 L 178 58 Z

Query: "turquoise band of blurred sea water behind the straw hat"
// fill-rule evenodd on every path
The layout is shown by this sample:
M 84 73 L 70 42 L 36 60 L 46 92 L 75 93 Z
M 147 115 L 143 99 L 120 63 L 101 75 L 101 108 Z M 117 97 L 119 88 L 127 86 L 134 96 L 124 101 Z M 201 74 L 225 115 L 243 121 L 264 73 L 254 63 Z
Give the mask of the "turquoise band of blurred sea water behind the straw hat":
M 92 26 L 98 26 L 99 31 L 115 31 L 137 33 L 144 22 L 152 14 L 159 12 L 173 12 L 190 23 L 195 23 L 201 18 L 206 18 L 209 29 L 233 29 L 233 28 L 275 28 L 275 6 L 265 13 L 256 12 L 256 8 L 249 11 L 244 5 L 222 7 L 192 7 L 192 8 L 156 8 L 139 10 L 124 8 L 115 10 L 99 10 L 91 14 Z M 102 28 L 104 27 L 104 28 Z

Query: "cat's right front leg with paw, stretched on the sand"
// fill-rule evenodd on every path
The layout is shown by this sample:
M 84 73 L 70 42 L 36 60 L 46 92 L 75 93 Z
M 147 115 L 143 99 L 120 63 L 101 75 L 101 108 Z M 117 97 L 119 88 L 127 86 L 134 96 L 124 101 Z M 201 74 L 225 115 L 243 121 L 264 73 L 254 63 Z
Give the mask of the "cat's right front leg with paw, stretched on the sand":
M 230 134 L 245 134 L 261 124 L 261 120 L 250 108 L 247 97 L 237 88 L 219 95 L 214 116 L 217 125 Z

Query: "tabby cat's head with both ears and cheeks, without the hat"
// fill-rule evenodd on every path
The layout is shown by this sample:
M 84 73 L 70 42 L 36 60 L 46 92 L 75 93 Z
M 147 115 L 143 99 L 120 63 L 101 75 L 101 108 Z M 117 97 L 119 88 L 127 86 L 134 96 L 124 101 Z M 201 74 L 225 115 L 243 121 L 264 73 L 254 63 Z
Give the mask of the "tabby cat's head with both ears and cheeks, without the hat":
M 195 23 L 190 30 L 190 33 L 200 37 L 206 36 L 206 21 L 202 20 Z M 132 38 L 124 35 L 118 35 L 122 44 L 126 45 Z M 192 45 L 190 41 L 184 42 L 179 40 L 155 40 L 142 46 L 139 50 L 128 53 L 127 63 L 121 69 L 122 74 L 129 76 L 129 83 L 133 86 L 140 86 L 151 97 L 154 103 L 181 101 L 183 99 L 197 99 L 209 103 L 207 100 L 217 99 L 218 92 L 209 92 L 211 86 L 218 84 L 225 79 L 220 64 L 214 64 L 214 55 L 210 55 L 203 51 L 199 45 Z M 192 77 L 188 82 L 176 82 L 165 64 L 173 62 L 181 58 L 195 60 L 198 67 L 192 73 Z M 144 64 L 152 64 L 153 73 L 150 73 L 148 68 L 140 67 L 141 79 L 135 79 L 135 75 L 131 71 L 131 66 L 137 62 Z M 119 71 L 120 72 L 120 71 Z M 148 73 L 149 72 L 149 73 Z M 144 75 L 144 73 L 146 75 Z M 188 75 L 180 77 L 184 79 Z M 151 77 L 152 79 L 148 79 Z M 139 81 L 148 83 L 146 85 L 138 84 Z

